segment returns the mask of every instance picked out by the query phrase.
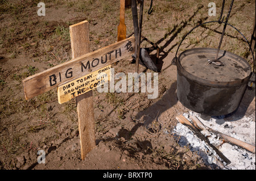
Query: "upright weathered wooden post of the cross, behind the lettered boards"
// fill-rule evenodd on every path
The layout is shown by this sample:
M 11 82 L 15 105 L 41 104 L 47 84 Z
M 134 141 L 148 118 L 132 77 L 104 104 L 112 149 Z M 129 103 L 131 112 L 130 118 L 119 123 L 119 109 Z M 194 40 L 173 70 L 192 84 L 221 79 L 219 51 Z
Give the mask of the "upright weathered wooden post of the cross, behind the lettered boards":
M 84 21 L 69 27 L 71 37 L 72 58 L 90 52 L 89 22 Z M 93 92 L 89 91 L 76 97 L 79 121 L 81 159 L 96 146 L 95 121 L 93 109 Z

